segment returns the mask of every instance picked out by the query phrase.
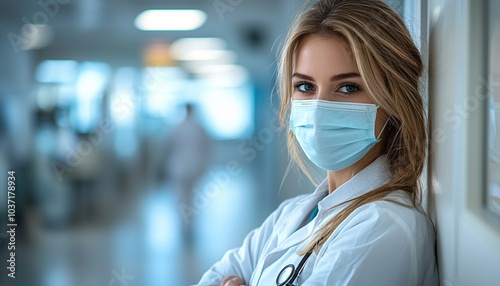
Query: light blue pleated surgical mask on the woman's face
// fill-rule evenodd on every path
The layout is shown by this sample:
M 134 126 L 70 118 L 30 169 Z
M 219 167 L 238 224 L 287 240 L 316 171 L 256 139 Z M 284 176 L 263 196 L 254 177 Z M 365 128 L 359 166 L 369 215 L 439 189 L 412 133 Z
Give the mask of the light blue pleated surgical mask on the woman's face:
M 342 170 L 380 141 L 375 137 L 377 108 L 365 103 L 292 100 L 290 130 L 311 162 L 324 170 Z

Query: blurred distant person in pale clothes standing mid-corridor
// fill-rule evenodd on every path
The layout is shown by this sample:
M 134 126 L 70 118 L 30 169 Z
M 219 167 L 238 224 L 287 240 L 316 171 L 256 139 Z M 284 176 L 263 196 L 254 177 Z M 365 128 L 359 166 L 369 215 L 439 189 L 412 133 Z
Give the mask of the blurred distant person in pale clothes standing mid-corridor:
M 193 205 L 195 186 L 205 173 L 210 159 L 210 138 L 198 121 L 193 104 L 187 103 L 186 118 L 169 135 L 166 144 L 166 169 L 181 210 Z M 192 223 L 181 217 L 184 240 L 192 242 Z

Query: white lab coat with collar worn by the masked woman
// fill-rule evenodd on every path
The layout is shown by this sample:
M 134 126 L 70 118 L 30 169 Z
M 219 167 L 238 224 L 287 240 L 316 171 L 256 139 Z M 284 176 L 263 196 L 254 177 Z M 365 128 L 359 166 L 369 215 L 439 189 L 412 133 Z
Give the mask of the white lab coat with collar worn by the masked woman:
M 228 251 L 198 285 L 220 285 L 226 276 L 238 276 L 247 285 L 276 285 L 276 276 L 290 263 L 297 266 L 297 252 L 321 225 L 342 208 L 330 207 L 358 197 L 390 179 L 384 156 L 324 197 L 323 181 L 312 194 L 283 202 L 250 232 L 240 248 Z M 389 197 L 411 205 L 404 191 Z M 318 203 L 319 202 L 319 203 Z M 300 224 L 318 204 L 317 216 Z M 332 233 L 318 254 L 312 254 L 298 285 L 438 285 L 435 232 L 421 209 L 377 201 L 359 207 Z

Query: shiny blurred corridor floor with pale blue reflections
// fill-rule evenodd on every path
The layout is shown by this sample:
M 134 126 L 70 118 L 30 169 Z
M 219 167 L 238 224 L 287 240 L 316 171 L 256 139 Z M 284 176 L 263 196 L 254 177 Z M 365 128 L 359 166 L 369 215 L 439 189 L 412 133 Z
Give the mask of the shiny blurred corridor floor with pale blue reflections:
M 89 217 L 54 228 L 32 214 L 26 220 L 29 239 L 18 243 L 18 277 L 2 285 L 196 284 L 261 223 L 265 214 L 249 215 L 259 209 L 252 182 L 242 172 L 210 189 L 214 177 L 206 175 L 189 206 L 165 183 L 130 194 L 117 219 L 101 223 Z

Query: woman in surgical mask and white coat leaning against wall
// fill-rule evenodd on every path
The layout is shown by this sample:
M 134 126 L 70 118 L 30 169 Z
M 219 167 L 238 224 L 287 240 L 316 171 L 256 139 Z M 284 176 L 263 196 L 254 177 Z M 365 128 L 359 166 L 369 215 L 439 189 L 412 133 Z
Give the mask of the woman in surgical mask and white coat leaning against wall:
M 280 61 L 281 121 L 303 171 L 302 153 L 328 176 L 199 285 L 438 285 L 418 184 L 421 73 L 408 30 L 381 1 L 320 0 L 300 14 Z

